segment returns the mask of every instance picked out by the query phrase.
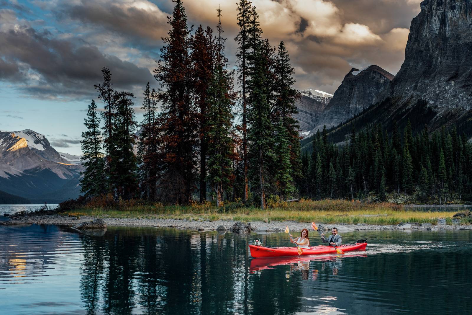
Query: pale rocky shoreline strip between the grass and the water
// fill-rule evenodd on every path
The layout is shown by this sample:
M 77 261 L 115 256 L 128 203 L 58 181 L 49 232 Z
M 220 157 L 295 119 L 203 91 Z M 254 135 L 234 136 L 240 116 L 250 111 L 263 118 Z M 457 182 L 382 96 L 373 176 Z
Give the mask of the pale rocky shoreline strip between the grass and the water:
M 24 216 L 9 221 L 1 221 L 1 225 L 22 225 L 22 224 L 58 224 L 76 226 L 77 224 L 93 221 L 95 217 L 81 216 L 67 217 L 60 214 L 43 216 Z M 107 226 L 152 226 L 158 228 L 175 228 L 183 230 L 231 230 L 236 221 L 189 221 L 176 219 L 131 219 L 131 218 L 102 218 Z M 284 221 L 284 222 L 262 222 L 254 221 L 251 223 L 251 229 L 255 232 L 283 232 L 288 225 L 291 231 L 300 231 L 309 228 L 310 224 L 306 222 Z M 354 230 L 472 230 L 472 225 L 446 225 L 445 221 L 440 221 L 432 225 L 430 223 L 404 223 L 398 225 L 373 225 L 373 224 L 325 224 L 324 226 L 331 230 L 337 227 L 339 232 L 349 232 Z

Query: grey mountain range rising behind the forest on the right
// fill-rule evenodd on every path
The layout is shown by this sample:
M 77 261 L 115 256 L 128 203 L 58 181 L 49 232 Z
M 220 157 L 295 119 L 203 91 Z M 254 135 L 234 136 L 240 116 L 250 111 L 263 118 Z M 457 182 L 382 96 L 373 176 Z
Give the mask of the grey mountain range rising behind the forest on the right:
M 471 55 L 472 1 L 425 0 L 412 20 L 405 61 L 396 76 L 375 65 L 352 69 L 329 103 L 311 113 L 319 117 L 313 129 L 301 131 L 311 136 L 326 124 L 337 143 L 353 128 L 379 123 L 391 131 L 394 121 L 404 128 L 410 120 L 413 132 L 456 126 L 470 137 Z M 300 101 L 297 106 L 303 108 Z

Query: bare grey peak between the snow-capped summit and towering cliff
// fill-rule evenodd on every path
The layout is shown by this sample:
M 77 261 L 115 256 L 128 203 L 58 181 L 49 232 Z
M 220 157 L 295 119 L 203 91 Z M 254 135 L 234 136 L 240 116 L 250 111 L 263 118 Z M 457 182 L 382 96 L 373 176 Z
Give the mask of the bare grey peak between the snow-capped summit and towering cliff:
M 371 106 L 393 78 L 391 73 L 376 65 L 362 70 L 352 68 L 337 88 L 313 132 L 323 128 L 323 125 L 328 129 L 335 127 Z

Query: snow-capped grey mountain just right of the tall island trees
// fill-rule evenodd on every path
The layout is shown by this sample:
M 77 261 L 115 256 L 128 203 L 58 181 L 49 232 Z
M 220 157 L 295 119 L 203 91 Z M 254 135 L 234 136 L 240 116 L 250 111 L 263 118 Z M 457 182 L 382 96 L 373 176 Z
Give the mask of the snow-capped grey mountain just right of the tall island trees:
M 300 99 L 295 103 L 298 110 L 295 119 L 299 122 L 301 135 L 306 136 L 318 124 L 333 94 L 312 89 L 304 90 L 301 94 Z

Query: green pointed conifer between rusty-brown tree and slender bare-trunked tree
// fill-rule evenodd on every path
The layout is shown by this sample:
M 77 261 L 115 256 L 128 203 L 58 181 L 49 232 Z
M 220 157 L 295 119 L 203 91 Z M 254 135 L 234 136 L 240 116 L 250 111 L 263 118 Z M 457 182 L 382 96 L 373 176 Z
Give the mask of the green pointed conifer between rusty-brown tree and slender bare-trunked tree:
M 235 162 L 234 140 L 231 111 L 236 99 L 233 92 L 233 73 L 229 72 L 228 59 L 224 56 L 224 42 L 221 27 L 221 10 L 218 9 L 218 40 L 215 66 L 209 86 L 208 121 L 208 177 L 216 193 L 216 204 L 220 206 L 224 191 L 227 191 L 234 179 L 231 168 Z

